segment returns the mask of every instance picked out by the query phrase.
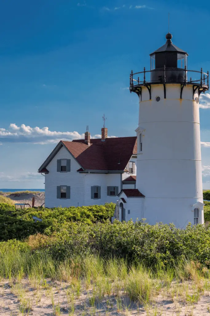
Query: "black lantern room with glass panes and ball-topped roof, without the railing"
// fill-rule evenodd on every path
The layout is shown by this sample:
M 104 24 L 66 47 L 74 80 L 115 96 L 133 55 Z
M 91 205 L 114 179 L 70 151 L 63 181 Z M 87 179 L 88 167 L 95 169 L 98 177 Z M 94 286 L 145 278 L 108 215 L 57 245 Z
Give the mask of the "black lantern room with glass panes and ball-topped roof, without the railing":
M 166 34 L 166 43 L 150 54 L 151 82 L 183 82 L 187 69 L 187 52 L 175 46 L 172 35 Z

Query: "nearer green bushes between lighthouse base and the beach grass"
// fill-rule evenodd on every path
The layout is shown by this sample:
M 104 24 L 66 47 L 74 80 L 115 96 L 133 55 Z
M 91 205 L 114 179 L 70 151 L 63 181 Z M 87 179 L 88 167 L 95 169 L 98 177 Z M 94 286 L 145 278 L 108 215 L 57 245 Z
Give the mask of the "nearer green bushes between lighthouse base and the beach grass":
M 32 253 L 59 261 L 73 254 L 93 253 L 150 267 L 175 265 L 185 258 L 210 266 L 210 227 L 200 224 L 182 230 L 172 224 L 150 226 L 145 222 L 71 222 L 51 236 L 31 235 L 23 244 Z

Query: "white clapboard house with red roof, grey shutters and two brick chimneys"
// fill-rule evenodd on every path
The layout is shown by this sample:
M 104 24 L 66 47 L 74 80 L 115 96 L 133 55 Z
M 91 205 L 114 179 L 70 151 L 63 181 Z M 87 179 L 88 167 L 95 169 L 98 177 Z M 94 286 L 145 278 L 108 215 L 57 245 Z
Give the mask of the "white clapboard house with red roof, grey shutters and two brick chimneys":
M 116 203 L 122 189 L 128 195 L 138 191 L 136 137 L 108 138 L 107 128 L 101 133 L 100 139 L 90 139 L 87 131 L 83 140 L 60 141 L 39 168 L 45 207 Z

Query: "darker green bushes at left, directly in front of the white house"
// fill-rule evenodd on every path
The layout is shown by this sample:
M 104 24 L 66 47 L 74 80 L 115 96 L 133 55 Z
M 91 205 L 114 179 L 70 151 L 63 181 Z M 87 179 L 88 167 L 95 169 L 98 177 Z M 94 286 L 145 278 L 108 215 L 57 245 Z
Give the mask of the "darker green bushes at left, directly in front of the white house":
M 0 240 L 23 239 L 31 234 L 52 234 L 67 227 L 70 222 L 93 222 L 106 220 L 113 216 L 115 204 L 93 205 L 83 207 L 15 210 L 14 206 L 0 204 Z M 41 218 L 34 223 L 32 216 Z

